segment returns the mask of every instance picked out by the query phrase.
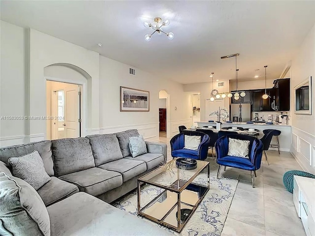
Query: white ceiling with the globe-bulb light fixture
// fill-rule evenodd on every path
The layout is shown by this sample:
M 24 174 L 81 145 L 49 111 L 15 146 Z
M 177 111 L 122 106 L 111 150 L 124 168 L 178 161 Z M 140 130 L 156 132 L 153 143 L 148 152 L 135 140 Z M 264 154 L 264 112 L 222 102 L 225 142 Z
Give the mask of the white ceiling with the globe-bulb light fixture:
M 5 1 L 1 20 L 30 27 L 183 84 L 278 78 L 315 24 L 315 1 Z M 311 10 L 313 9 L 313 10 Z M 169 19 L 166 32 L 143 26 Z M 100 48 L 97 43 L 102 43 Z M 259 71 L 254 71 L 255 69 Z

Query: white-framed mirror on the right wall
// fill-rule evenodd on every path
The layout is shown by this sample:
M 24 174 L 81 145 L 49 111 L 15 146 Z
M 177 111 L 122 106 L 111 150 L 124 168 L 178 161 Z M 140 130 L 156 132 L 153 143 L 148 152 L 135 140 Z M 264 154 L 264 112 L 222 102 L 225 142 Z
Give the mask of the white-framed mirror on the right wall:
M 312 115 L 312 76 L 294 88 L 295 114 Z

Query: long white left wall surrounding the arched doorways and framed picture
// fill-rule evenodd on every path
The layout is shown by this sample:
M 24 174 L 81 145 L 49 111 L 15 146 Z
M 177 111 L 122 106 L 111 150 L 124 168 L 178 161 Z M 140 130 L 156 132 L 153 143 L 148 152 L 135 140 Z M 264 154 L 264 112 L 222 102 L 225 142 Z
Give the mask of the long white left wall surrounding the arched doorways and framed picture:
M 182 84 L 137 68 L 136 75 L 130 75 L 128 65 L 32 29 L 1 21 L 0 30 L 1 116 L 46 116 L 46 77 L 54 77 L 81 81 L 86 88 L 83 135 L 138 129 L 146 139 L 158 140 L 160 90 L 169 96 L 168 136 L 177 134 L 179 125 L 191 125 L 190 95 Z M 76 75 L 69 76 L 70 70 Z M 120 112 L 120 86 L 150 91 L 150 111 Z M 2 119 L 0 126 L 0 146 L 42 140 L 47 133 L 44 119 Z

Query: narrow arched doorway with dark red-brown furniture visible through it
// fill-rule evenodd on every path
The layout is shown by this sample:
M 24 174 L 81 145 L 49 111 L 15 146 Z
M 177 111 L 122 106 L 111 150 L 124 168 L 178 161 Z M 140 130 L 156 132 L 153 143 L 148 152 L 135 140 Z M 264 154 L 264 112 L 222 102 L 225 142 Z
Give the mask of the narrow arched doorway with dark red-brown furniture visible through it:
M 158 107 L 158 116 L 159 116 L 159 138 L 169 137 L 169 122 L 170 122 L 170 96 L 165 90 L 160 90 L 158 92 L 159 98 L 159 107 Z

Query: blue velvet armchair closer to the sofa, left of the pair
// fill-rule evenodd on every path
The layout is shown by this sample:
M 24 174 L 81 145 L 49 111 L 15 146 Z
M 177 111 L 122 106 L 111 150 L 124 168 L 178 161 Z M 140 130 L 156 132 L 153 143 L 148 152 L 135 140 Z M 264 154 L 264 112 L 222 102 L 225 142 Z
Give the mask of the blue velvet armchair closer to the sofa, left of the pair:
M 185 149 L 185 135 L 190 136 L 201 136 L 201 142 L 198 150 Z M 208 135 L 196 132 L 196 131 L 185 131 L 182 134 L 175 135 L 172 137 L 171 144 L 171 155 L 172 157 L 187 157 L 197 160 L 205 160 L 208 155 L 210 138 Z

